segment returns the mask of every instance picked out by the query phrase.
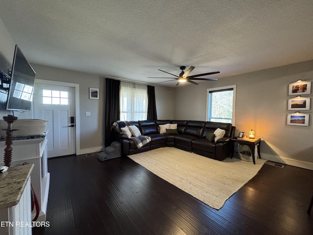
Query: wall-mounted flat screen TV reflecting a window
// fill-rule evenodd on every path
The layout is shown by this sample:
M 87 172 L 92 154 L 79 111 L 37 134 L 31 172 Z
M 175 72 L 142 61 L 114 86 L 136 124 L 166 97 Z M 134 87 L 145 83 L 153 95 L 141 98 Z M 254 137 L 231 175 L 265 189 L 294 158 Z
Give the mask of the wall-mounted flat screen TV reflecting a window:
M 7 110 L 29 111 L 33 100 L 35 71 L 15 45 Z

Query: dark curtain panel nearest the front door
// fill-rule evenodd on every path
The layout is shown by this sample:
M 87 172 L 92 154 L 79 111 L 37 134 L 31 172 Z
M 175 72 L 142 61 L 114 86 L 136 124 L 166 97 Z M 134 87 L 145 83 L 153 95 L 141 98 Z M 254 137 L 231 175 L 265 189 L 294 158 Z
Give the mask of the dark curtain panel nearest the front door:
M 119 80 L 106 78 L 105 147 L 112 143 L 111 125 L 119 120 Z

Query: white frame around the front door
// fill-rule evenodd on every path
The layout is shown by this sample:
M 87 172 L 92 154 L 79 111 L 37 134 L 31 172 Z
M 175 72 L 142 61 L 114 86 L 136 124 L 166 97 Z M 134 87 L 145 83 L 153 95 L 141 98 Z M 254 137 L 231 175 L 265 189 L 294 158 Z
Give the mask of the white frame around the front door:
M 64 86 L 64 87 L 73 87 L 75 90 L 75 152 L 76 155 L 80 155 L 80 116 L 79 116 L 79 84 L 76 83 L 68 83 L 68 82 L 58 82 L 44 79 L 35 79 L 35 84 L 46 84 L 46 85 L 54 85 L 54 86 Z M 34 117 L 34 109 L 33 109 L 33 117 Z

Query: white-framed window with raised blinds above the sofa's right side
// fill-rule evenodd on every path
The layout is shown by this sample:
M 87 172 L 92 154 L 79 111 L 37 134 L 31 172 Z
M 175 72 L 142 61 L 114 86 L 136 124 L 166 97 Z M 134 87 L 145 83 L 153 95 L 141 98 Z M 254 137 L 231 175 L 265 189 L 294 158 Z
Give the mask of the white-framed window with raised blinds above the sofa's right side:
M 207 121 L 235 124 L 236 85 L 207 89 Z

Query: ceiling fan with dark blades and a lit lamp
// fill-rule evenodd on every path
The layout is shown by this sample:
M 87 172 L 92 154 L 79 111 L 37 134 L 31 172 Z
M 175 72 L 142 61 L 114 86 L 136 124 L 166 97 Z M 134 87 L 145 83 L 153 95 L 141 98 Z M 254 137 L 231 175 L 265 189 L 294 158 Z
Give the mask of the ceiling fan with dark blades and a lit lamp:
M 192 84 L 198 85 L 198 83 L 196 83 L 196 82 L 194 82 L 192 80 L 216 81 L 217 80 L 216 78 L 199 78 L 199 77 L 205 76 L 205 75 L 211 75 L 211 74 L 215 74 L 215 73 L 220 73 L 220 71 L 215 71 L 215 72 L 206 72 L 206 73 L 201 73 L 201 74 L 188 76 L 189 73 L 191 71 L 193 71 L 193 69 L 195 69 L 195 67 L 190 66 L 190 68 L 187 71 L 184 72 L 185 69 L 186 69 L 185 66 L 180 66 L 181 72 L 179 73 L 179 76 L 177 76 L 175 74 L 172 74 L 172 73 L 169 73 L 169 72 L 166 72 L 166 71 L 163 71 L 163 70 L 159 70 L 159 71 L 171 74 L 171 75 L 173 75 L 175 77 L 148 77 L 148 78 L 174 78 L 173 80 L 169 80 L 169 81 L 178 80 L 178 83 L 176 84 L 176 86 L 178 86 L 180 82 L 190 82 Z M 169 81 L 165 81 L 165 82 L 169 82 Z M 162 83 L 162 82 L 159 82 L 159 83 Z

